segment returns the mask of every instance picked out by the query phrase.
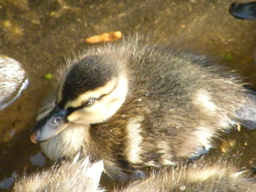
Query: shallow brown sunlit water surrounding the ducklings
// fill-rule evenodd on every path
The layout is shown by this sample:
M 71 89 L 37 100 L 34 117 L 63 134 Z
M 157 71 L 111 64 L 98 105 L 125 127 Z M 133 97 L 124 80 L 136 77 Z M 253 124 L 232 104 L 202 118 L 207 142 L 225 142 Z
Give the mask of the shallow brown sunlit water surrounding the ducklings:
M 29 139 L 36 113 L 56 81 L 44 79 L 58 66 L 91 46 L 84 38 L 120 30 L 151 34 L 160 42 L 209 56 L 230 67 L 256 88 L 254 51 L 256 21 L 237 20 L 228 13 L 230 0 L 72 1 L 17 0 L 0 3 L 0 54 L 23 64 L 30 84 L 21 97 L 0 112 L 0 190 L 11 186 L 12 176 L 50 164 Z M 16 2 L 16 3 L 11 3 Z M 256 131 L 242 128 L 223 133 L 220 145 L 234 143 L 230 154 L 240 155 L 241 167 L 256 166 Z M 226 142 L 233 141 L 233 142 Z M 223 144 L 224 143 L 224 144 Z M 237 152 L 239 151 L 239 152 Z M 104 184 L 103 184 L 104 185 Z

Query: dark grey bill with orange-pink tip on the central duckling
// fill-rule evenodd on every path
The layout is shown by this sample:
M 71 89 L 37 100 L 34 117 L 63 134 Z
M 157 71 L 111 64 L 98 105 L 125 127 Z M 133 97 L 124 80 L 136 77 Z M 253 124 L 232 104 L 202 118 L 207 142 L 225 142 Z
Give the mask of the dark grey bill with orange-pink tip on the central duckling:
M 67 111 L 55 107 L 36 123 L 31 130 L 30 139 L 33 143 L 47 141 L 61 132 L 68 124 Z

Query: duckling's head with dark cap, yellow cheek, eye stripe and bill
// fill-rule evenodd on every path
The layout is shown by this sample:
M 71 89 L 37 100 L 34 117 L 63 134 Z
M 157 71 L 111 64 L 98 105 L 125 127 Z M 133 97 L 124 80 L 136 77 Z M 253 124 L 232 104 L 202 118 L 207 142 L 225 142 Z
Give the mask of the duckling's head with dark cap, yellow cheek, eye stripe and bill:
M 103 54 L 80 57 L 70 63 L 55 107 L 32 129 L 32 142 L 49 140 L 70 123 L 106 121 L 124 103 L 127 91 L 124 63 Z

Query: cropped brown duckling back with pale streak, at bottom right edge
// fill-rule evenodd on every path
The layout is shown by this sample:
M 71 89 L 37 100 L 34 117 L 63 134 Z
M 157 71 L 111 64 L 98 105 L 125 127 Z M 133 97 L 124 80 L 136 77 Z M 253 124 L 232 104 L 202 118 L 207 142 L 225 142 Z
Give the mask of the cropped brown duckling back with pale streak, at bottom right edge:
M 165 168 L 141 181 L 132 183 L 118 192 L 254 192 L 255 180 L 227 160 L 208 162 L 204 159 L 176 169 Z M 254 182 L 253 182 L 254 181 Z M 117 192 L 117 190 L 115 190 Z

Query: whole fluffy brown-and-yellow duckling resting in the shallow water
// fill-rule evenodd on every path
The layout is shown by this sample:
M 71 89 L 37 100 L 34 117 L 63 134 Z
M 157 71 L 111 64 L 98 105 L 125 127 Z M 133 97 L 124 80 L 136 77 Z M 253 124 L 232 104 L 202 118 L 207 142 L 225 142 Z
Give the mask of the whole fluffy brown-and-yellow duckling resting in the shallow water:
M 60 76 L 30 135 L 54 161 L 80 152 L 109 174 L 173 165 L 237 123 L 255 128 L 256 97 L 238 77 L 139 36 L 85 50 Z

